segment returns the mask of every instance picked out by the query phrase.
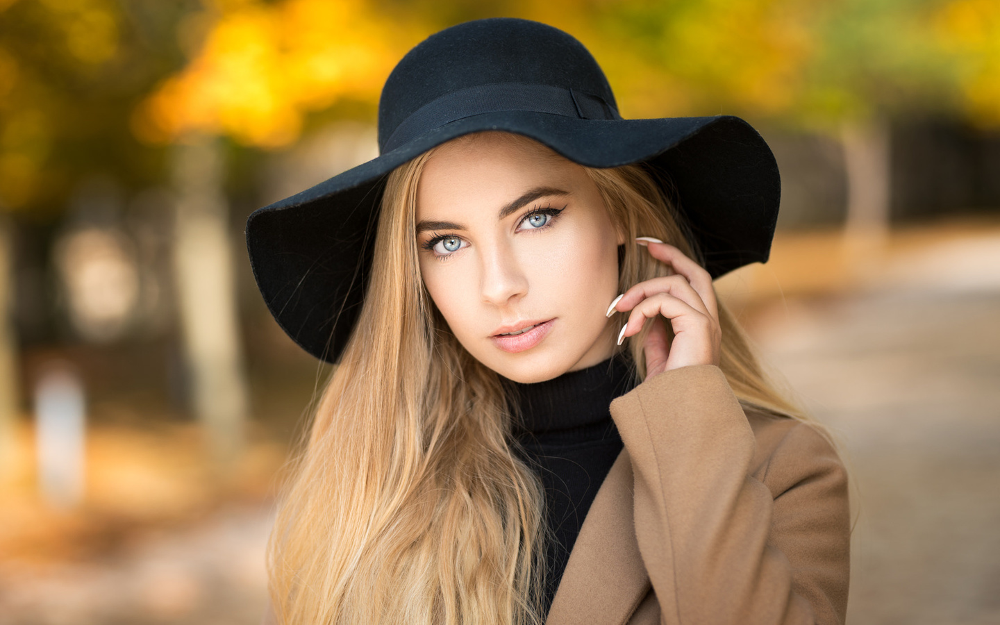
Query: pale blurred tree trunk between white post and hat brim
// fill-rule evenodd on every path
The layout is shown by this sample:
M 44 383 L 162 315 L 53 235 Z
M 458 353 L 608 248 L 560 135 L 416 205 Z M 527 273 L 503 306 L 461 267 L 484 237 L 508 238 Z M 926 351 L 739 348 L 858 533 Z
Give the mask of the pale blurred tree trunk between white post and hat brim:
M 174 268 L 184 355 L 194 410 L 225 467 L 243 446 L 248 398 L 223 173 L 217 139 L 175 147 Z

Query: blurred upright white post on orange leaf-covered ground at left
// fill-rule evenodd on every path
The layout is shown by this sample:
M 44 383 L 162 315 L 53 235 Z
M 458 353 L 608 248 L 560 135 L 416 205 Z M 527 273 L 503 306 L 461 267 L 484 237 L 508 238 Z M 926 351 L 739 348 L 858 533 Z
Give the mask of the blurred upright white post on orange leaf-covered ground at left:
M 66 366 L 47 369 L 35 385 L 36 445 L 39 486 L 54 507 L 83 499 L 85 422 L 79 377 Z

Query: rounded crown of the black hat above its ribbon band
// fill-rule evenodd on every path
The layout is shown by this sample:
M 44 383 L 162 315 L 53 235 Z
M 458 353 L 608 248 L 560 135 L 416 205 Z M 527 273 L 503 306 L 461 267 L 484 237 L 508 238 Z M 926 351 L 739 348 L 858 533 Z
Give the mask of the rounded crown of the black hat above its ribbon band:
M 410 50 L 389 74 L 379 100 L 379 148 L 410 115 L 461 89 L 528 83 L 575 90 L 615 107 L 590 52 L 558 28 L 517 18 L 452 26 Z

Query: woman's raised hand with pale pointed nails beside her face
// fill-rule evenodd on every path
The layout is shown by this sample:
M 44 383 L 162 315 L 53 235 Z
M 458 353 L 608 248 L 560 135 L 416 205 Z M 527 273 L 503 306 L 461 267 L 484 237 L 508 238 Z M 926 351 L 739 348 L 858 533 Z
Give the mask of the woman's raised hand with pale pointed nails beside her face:
M 688 365 L 718 365 L 722 329 L 712 276 L 672 245 L 647 237 L 636 242 L 676 273 L 640 282 L 620 296 L 611 311 L 632 312 L 619 335 L 619 345 L 625 337 L 638 334 L 649 320 L 653 327 L 643 344 L 646 379 Z M 663 317 L 670 320 L 673 341 Z

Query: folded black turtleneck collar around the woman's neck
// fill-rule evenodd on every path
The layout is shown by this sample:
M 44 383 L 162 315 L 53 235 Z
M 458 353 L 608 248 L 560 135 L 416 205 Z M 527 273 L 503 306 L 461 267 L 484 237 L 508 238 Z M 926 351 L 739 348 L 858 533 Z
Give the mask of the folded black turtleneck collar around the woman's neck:
M 507 380 L 514 435 L 553 433 L 607 422 L 611 400 L 634 386 L 632 366 L 614 356 L 586 369 L 533 384 Z

